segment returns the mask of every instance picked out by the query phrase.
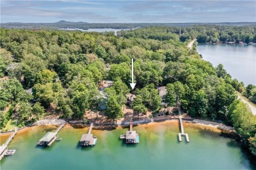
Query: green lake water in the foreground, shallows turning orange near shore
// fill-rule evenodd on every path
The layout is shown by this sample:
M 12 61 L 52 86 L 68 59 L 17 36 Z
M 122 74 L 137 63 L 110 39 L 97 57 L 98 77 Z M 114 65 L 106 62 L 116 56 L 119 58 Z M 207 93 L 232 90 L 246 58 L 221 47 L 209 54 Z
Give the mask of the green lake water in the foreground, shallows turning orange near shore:
M 203 127 L 204 128 L 204 127 Z M 256 162 L 234 139 L 186 124 L 190 143 L 178 141 L 177 122 L 134 127 L 140 143 L 127 145 L 119 139 L 127 128 L 93 129 L 95 146 L 81 147 L 79 140 L 88 127 L 65 126 L 62 141 L 36 146 L 47 131 L 56 127 L 35 126 L 19 132 L 9 144 L 16 149 L 0 162 L 4 169 L 256 169 Z M 1 137 L 3 140 L 5 137 Z M 2 143 L 2 141 L 1 141 Z

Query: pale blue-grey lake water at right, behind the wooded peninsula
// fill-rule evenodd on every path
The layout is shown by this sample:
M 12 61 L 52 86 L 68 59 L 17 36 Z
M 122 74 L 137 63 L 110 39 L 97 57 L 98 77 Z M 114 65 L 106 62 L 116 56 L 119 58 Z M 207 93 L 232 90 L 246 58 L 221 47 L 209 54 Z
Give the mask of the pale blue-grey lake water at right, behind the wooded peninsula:
M 198 44 L 203 59 L 214 67 L 222 63 L 224 69 L 238 81 L 256 85 L 256 46 L 241 44 Z

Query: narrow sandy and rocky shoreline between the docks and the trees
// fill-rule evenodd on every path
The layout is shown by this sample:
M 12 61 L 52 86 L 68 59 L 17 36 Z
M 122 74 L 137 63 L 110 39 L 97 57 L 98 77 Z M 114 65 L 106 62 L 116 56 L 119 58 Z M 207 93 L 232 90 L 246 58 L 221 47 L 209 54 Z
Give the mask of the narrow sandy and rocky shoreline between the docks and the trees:
M 27 129 L 28 127 L 33 127 L 33 126 L 58 126 L 60 124 L 66 123 L 66 125 L 68 126 L 72 126 L 72 125 L 82 125 L 82 126 L 89 126 L 89 124 L 85 124 L 83 122 L 66 122 L 63 119 L 55 119 L 55 120 L 39 120 L 35 123 L 33 123 L 30 126 L 25 126 L 25 127 L 21 127 L 20 129 L 18 129 L 18 132 L 23 131 L 25 129 Z M 136 122 L 136 121 L 135 121 Z M 148 121 L 148 122 L 139 122 L 139 123 L 134 123 L 135 126 L 138 125 L 145 125 L 145 124 L 151 124 L 153 126 L 157 126 L 158 123 L 161 122 L 179 122 L 179 120 L 177 119 L 165 119 L 165 120 L 158 120 L 158 121 Z M 190 124 L 190 125 L 197 125 L 197 126 L 203 126 L 203 127 L 211 127 L 213 129 L 218 129 L 220 132 L 224 132 L 224 133 L 236 133 L 236 131 L 234 130 L 233 127 L 230 126 L 226 126 L 224 124 L 219 124 L 219 123 L 215 123 L 215 122 L 209 122 L 206 120 L 198 120 L 198 119 L 194 119 L 194 120 L 183 120 L 183 122 L 185 124 Z M 123 122 L 123 124 L 95 124 L 95 128 L 104 128 L 104 127 L 126 127 L 129 126 L 130 122 Z M 1 132 L 0 135 L 9 135 L 9 133 L 12 133 L 13 131 L 7 131 L 7 132 Z

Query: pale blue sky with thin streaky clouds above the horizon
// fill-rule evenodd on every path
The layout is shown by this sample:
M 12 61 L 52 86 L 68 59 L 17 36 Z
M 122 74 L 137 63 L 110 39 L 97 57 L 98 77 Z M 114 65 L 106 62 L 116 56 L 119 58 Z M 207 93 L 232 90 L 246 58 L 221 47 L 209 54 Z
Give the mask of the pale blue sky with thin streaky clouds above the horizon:
M 1 0 L 1 23 L 256 22 L 256 1 Z

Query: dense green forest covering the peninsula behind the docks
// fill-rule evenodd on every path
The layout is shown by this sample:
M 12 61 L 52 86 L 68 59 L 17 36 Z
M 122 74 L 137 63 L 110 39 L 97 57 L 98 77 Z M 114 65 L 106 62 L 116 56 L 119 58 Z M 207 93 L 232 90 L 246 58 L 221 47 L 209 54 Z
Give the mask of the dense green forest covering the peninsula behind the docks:
M 236 100 L 236 90 L 252 96 L 255 86 L 245 88 L 226 73 L 223 65 L 214 68 L 202 59 L 195 46 L 187 48 L 182 41 L 198 38 L 202 33 L 215 34 L 213 28 L 197 27 L 196 31 L 186 28 L 187 32 L 177 27 L 147 27 L 120 31 L 117 35 L 2 28 L 1 128 L 13 110 L 20 127 L 38 120 L 50 107 L 63 118 L 81 119 L 86 110 L 98 108 L 102 102 L 98 90 L 102 80 L 114 81 L 104 91 L 104 115 L 112 120 L 121 118 L 125 95 L 133 92 L 129 86 L 133 58 L 137 97 L 132 108 L 136 112 L 158 112 L 161 99 L 156 86 L 166 86 L 169 106 L 175 107 L 179 101 L 183 112 L 194 118 L 220 120 L 234 126 L 256 155 L 256 117 L 247 105 Z M 186 34 L 188 38 L 183 39 Z M 217 34 L 220 35 L 218 31 Z M 106 64 L 111 65 L 110 70 Z M 32 94 L 26 92 L 29 88 Z

